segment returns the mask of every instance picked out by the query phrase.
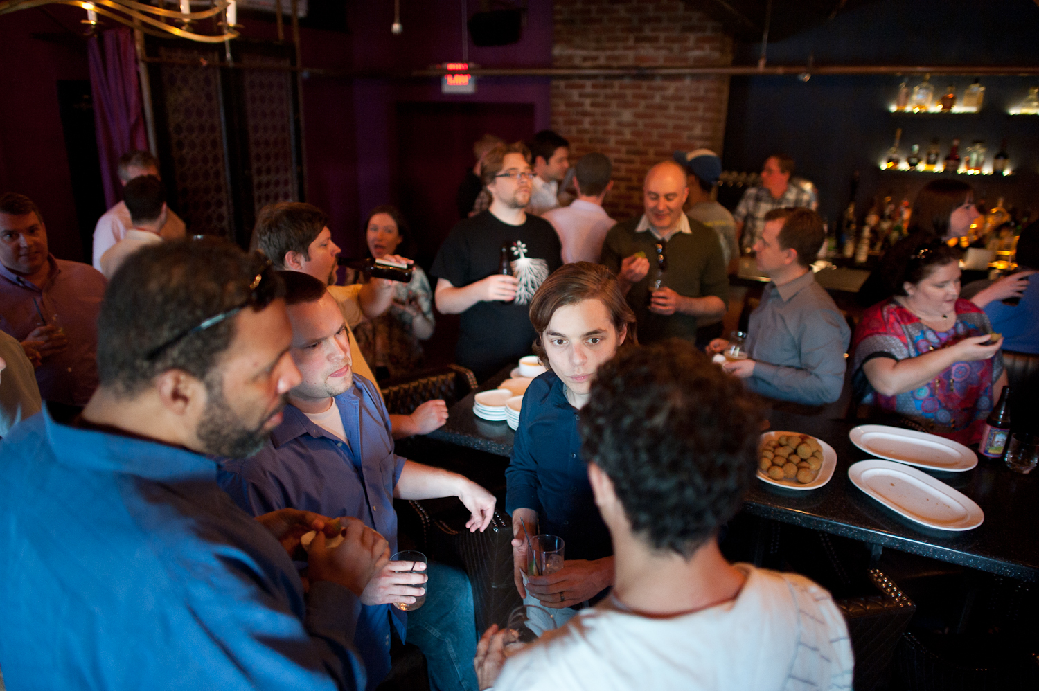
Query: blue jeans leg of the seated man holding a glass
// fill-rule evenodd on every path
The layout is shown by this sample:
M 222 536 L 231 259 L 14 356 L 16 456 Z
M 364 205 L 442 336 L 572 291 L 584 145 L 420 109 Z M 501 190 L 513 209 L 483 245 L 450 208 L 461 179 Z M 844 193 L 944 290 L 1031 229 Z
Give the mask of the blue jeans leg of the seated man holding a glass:
M 407 642 L 426 656 L 433 691 L 478 691 L 473 586 L 465 572 L 430 562 L 426 603 L 407 613 Z

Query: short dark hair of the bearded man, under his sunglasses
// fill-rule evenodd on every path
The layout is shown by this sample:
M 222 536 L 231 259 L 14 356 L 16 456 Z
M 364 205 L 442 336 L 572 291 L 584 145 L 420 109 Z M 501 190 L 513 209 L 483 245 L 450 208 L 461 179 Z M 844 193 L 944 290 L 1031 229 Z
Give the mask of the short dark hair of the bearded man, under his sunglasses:
M 269 262 L 215 237 L 163 242 L 131 255 L 112 276 L 98 316 L 98 377 L 119 396 L 133 396 L 167 370 L 206 380 L 235 337 L 224 319 L 159 349 L 206 319 L 242 305 L 262 273 L 265 301 L 285 287 Z

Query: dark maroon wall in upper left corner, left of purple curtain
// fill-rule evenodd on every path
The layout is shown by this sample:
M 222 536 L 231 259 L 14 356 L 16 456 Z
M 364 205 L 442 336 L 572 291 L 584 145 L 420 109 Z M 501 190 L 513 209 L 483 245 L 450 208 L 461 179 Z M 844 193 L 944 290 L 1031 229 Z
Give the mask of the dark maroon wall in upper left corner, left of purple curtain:
M 51 251 L 75 261 L 84 248 L 58 81 L 89 78 L 84 18 L 82 9 L 60 5 L 0 17 L 0 192 L 30 196 L 44 214 Z

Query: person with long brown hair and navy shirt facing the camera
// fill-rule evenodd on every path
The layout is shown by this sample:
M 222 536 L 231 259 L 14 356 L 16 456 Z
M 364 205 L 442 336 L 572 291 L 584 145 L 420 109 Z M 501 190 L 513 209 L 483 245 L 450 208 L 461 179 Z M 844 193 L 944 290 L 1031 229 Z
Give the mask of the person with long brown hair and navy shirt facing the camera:
M 505 504 L 512 515 L 516 589 L 527 604 L 552 608 L 562 626 L 613 585 L 613 546 L 581 458 L 578 418 L 598 366 L 622 344 L 637 343 L 635 313 L 609 269 L 577 262 L 545 278 L 531 301 L 530 320 L 534 352 L 549 370 L 524 394 Z M 527 539 L 536 533 L 563 538 L 561 570 L 526 573 Z

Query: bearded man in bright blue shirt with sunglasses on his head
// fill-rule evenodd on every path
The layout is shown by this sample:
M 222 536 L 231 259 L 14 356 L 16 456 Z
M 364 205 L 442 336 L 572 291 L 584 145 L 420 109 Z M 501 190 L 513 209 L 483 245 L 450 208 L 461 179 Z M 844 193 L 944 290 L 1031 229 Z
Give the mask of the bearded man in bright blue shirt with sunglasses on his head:
M 351 629 L 385 540 L 353 522 L 327 549 L 318 514 L 254 520 L 203 455 L 258 449 L 300 380 L 267 266 L 221 241 L 133 255 L 101 308 L 82 415 L 45 409 L 0 442 L 10 688 L 364 687 Z M 312 528 L 304 594 L 287 552 Z

